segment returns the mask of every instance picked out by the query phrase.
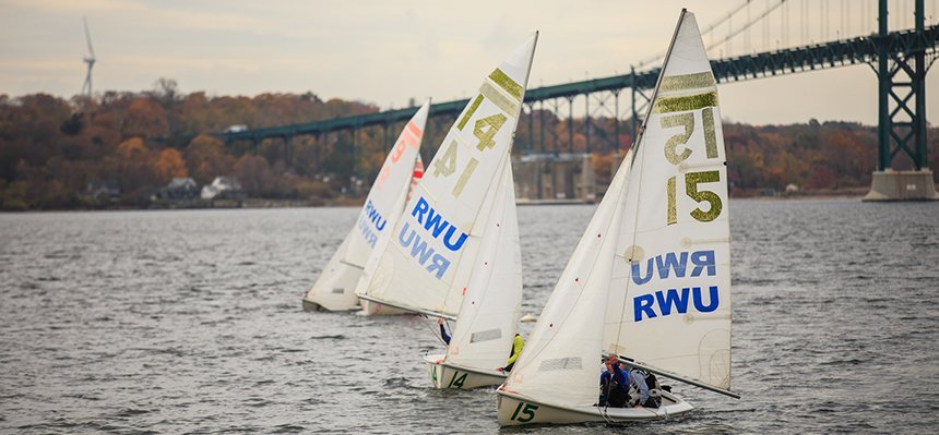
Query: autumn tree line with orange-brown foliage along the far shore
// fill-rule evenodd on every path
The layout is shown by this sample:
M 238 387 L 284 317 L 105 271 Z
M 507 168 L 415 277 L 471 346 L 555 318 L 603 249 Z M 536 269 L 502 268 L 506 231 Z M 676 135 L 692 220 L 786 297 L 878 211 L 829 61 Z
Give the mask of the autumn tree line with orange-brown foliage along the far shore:
M 345 132 L 229 145 L 217 133 L 231 125 L 264 128 L 378 110 L 358 101 L 324 101 L 312 93 L 182 95 L 171 80 L 159 80 L 148 92 L 105 92 L 91 99 L 0 95 L 0 208 L 146 207 L 162 186 L 186 177 L 200 185 L 234 177 L 249 197 L 258 198 L 325 204 L 357 197 L 367 192 L 388 142 L 399 132 L 379 128 L 355 136 Z M 628 124 L 601 118 L 569 125 L 549 111 L 523 116 L 515 149 L 532 144 L 535 152 L 592 152 L 603 180 L 608 178 L 609 152 L 625 150 L 631 142 L 622 132 Z M 436 147 L 447 128 L 432 129 L 424 146 Z M 848 122 L 753 126 L 725 121 L 732 193 L 788 184 L 809 191 L 868 186 L 876 133 L 875 126 Z M 937 133 L 930 129 L 928 135 L 932 156 L 939 152 Z M 425 149 L 425 158 L 431 153 Z M 939 158 L 930 165 L 939 172 Z M 911 165 L 901 157 L 894 167 Z M 116 186 L 118 196 L 97 194 L 94 186 L 103 183 Z

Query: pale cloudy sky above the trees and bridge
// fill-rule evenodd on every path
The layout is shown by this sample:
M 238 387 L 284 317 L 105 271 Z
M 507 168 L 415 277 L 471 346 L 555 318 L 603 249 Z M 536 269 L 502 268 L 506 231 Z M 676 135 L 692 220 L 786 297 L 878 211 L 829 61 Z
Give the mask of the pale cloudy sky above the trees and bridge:
M 705 33 L 712 59 L 876 27 L 876 0 L 751 0 Z M 927 25 L 937 0 L 926 0 Z M 212 96 L 312 92 L 382 109 L 411 98 L 468 98 L 482 78 L 539 31 L 530 88 L 626 73 L 663 53 L 682 7 L 702 33 L 746 0 L 0 0 L 0 94 L 79 94 L 88 56 L 94 89 L 141 92 L 171 78 Z M 891 28 L 913 25 L 913 0 L 891 0 Z M 820 20 L 819 16 L 827 16 Z M 661 61 L 658 61 L 661 62 Z M 655 64 L 655 63 L 652 63 Z M 939 75 L 927 75 L 927 121 L 939 113 Z M 725 121 L 877 122 L 867 64 L 723 84 Z M 627 100 L 621 101 L 625 105 Z M 575 111 L 577 114 L 577 111 Z

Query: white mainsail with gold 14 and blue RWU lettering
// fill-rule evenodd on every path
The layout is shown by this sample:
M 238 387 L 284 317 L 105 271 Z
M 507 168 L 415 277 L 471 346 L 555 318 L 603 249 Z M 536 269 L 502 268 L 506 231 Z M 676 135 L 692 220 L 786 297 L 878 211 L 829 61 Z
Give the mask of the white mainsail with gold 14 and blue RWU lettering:
M 453 318 L 509 161 L 537 34 L 492 71 L 412 192 L 361 299 Z

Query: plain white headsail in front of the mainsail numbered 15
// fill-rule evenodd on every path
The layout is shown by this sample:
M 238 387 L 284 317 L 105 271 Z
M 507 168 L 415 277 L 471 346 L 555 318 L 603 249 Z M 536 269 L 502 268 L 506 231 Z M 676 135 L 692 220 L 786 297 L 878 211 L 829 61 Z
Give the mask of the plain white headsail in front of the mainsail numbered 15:
M 603 312 L 631 156 L 630 150 L 502 388 L 560 404 L 596 402 Z

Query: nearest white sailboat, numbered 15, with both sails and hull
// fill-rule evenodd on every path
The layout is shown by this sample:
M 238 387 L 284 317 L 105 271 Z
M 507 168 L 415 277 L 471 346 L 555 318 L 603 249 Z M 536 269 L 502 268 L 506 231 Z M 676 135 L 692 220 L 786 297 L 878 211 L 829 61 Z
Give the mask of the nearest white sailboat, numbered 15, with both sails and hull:
M 629 422 L 693 407 L 597 406 L 604 354 L 712 391 L 730 387 L 727 171 L 716 82 L 682 10 L 642 133 L 499 387 L 501 425 Z

